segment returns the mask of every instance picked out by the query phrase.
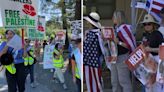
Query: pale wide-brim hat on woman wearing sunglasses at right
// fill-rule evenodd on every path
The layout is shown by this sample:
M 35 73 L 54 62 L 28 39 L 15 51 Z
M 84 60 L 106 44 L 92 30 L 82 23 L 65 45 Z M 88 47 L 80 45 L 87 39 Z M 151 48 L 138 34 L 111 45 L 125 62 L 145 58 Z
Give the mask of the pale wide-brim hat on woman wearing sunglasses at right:
M 156 25 L 159 25 L 159 23 L 156 22 L 150 14 L 146 14 L 144 16 L 144 20 L 141 22 L 141 24 L 144 24 L 144 23 L 154 23 Z

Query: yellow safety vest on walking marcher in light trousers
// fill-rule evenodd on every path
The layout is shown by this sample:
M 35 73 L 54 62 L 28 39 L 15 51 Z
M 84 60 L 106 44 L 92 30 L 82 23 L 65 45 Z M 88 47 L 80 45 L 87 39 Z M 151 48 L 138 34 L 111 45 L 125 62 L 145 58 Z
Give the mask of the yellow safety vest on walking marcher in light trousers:
M 59 59 L 53 58 L 53 66 L 54 67 L 62 68 L 63 65 L 64 65 L 64 59 L 63 59 L 62 55 L 59 56 Z

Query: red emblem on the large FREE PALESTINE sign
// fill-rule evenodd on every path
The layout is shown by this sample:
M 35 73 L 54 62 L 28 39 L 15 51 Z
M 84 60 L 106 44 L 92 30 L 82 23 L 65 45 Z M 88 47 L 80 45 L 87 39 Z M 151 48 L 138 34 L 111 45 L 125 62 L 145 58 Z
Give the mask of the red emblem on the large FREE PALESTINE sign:
M 32 5 L 25 4 L 25 5 L 23 5 L 23 8 L 24 9 L 22 11 L 25 14 L 28 14 L 30 16 L 35 16 L 36 15 L 36 11 L 35 11 L 35 9 L 34 9 L 34 7 Z

